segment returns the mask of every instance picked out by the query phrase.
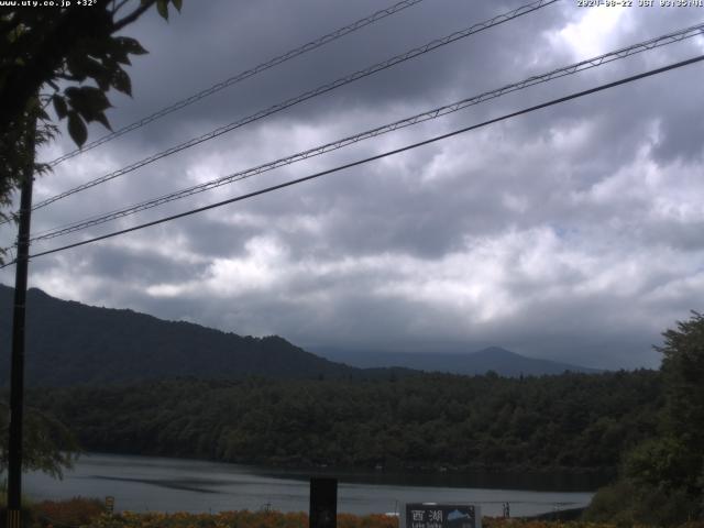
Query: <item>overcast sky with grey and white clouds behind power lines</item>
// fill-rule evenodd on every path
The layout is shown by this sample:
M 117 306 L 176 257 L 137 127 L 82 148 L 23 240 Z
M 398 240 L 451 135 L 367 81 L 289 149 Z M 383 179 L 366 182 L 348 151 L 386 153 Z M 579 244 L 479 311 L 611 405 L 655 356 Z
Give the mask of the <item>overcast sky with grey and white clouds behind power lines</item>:
M 186 0 L 128 28 L 148 55 L 112 96 L 113 127 L 375 10 L 385 0 Z M 425 0 L 67 161 L 34 200 L 521 1 Z M 636 0 L 634 3 L 638 3 Z M 659 3 L 659 2 L 656 2 Z M 702 8 L 562 0 L 302 102 L 35 212 L 80 220 L 704 21 Z M 37 243 L 48 250 L 377 154 L 704 53 L 635 55 L 221 187 Z M 654 367 L 660 332 L 704 310 L 702 63 L 243 202 L 32 261 L 48 294 L 318 348 L 515 352 Z M 63 127 L 63 125 L 62 125 Z M 90 138 L 105 133 L 90 129 Z M 65 134 L 67 135 L 67 134 Z M 64 138 L 41 153 L 73 148 Z M 0 231 L 3 245 L 12 230 Z M 13 284 L 13 268 L 0 282 Z

